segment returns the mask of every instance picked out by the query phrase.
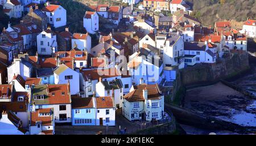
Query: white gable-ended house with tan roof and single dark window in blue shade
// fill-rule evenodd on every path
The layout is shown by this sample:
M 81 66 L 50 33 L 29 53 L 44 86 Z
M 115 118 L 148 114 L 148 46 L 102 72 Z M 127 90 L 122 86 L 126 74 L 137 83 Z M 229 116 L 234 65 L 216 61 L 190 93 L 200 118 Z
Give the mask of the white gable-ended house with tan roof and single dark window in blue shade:
M 76 95 L 79 93 L 79 72 L 72 70 L 64 64 L 61 64 L 59 67 L 55 68 L 53 72 L 55 84 L 67 84 L 69 81 L 71 85 L 71 95 Z

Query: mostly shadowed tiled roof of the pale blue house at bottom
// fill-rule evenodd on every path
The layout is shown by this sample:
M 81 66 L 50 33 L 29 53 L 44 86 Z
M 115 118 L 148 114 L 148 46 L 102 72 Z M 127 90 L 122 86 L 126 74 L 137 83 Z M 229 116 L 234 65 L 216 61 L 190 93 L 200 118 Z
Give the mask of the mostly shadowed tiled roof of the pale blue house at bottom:
M 72 96 L 72 109 L 93 108 L 93 98 L 82 98 L 80 96 Z

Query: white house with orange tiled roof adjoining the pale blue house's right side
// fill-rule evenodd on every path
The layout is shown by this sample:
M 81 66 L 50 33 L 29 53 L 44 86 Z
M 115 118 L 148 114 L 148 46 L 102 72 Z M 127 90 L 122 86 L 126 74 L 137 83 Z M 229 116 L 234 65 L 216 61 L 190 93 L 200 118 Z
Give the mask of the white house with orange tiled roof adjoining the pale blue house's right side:
M 96 125 L 115 126 L 115 107 L 112 97 L 96 97 Z

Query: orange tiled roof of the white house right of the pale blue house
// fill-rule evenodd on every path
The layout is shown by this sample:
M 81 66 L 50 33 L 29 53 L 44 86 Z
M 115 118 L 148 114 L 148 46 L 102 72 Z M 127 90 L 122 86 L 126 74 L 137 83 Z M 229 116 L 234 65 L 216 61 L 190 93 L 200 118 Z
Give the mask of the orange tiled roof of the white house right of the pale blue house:
M 96 97 L 96 108 L 114 108 L 112 97 Z

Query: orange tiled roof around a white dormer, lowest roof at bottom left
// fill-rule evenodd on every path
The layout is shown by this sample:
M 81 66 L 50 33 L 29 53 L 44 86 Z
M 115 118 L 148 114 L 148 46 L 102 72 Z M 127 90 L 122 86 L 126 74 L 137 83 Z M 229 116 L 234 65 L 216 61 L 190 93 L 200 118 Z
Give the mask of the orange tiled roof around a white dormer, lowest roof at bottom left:
M 39 116 L 40 113 L 50 113 L 49 116 Z M 51 108 L 47 109 L 36 109 L 34 112 L 31 112 L 31 125 L 35 126 L 36 122 L 42 122 L 42 125 L 51 126 L 52 123 L 52 114 L 53 111 Z

